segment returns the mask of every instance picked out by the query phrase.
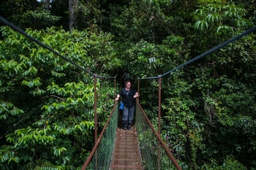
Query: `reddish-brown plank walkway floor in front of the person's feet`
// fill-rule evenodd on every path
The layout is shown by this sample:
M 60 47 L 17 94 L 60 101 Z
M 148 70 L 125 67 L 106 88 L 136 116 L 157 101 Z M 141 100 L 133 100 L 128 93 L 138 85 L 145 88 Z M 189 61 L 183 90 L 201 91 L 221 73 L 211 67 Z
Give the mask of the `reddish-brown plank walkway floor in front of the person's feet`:
M 143 169 L 138 146 L 137 130 L 132 125 L 131 130 L 117 128 L 116 143 L 113 151 L 111 170 Z

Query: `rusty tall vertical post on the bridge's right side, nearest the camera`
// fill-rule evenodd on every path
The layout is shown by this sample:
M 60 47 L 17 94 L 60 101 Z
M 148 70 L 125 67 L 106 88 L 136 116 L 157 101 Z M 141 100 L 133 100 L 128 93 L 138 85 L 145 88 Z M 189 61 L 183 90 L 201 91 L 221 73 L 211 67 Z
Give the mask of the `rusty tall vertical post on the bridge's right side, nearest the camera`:
M 159 75 L 159 85 L 158 85 L 158 134 L 159 136 L 161 136 L 161 76 Z M 157 157 L 157 161 L 158 161 L 158 169 L 160 169 L 160 154 L 161 152 L 161 144 L 158 141 L 158 157 Z

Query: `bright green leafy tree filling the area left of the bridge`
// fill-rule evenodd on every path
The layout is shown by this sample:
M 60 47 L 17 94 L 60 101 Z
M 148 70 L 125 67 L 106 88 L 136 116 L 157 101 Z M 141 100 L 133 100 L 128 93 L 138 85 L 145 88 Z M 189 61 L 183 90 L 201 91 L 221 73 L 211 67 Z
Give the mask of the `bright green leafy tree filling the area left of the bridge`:
M 59 28 L 27 32 L 91 72 L 111 65 L 105 56 L 111 56 L 110 34 Z M 1 33 L 1 169 L 77 169 L 94 144 L 93 77 L 10 28 Z M 103 84 L 97 83 L 104 96 L 97 108 L 99 130 L 114 93 L 113 86 Z

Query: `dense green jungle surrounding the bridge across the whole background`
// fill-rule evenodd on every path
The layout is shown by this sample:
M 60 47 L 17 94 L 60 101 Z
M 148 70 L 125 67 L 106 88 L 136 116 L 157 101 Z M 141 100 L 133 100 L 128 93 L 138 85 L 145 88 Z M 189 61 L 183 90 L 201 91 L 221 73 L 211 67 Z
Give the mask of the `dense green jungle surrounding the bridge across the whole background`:
M 4 0 L 0 14 L 90 72 L 155 77 L 255 26 L 255 0 Z M 94 78 L 8 26 L 0 35 L 0 169 L 81 169 Z M 182 169 L 256 169 L 256 34 L 162 78 L 162 139 Z M 114 104 L 97 80 L 98 130 Z M 157 125 L 158 80 L 140 103 Z

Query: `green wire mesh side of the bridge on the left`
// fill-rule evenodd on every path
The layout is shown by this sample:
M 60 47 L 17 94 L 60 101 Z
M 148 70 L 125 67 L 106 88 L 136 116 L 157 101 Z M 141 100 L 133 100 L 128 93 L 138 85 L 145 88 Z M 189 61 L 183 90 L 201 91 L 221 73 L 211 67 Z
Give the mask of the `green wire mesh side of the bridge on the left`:
M 99 135 L 91 154 L 84 163 L 82 170 L 109 169 L 112 159 L 113 148 L 116 140 L 116 129 L 118 125 L 118 104 L 115 103 L 113 110 Z

